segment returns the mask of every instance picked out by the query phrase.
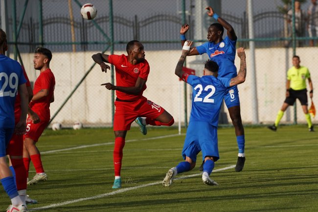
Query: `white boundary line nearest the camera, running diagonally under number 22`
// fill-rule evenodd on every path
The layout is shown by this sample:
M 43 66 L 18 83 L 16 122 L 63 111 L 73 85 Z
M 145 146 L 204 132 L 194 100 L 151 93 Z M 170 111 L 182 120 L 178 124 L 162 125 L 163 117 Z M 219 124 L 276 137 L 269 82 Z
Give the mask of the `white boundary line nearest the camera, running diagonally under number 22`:
M 227 166 L 225 168 L 215 169 L 215 170 L 213 170 L 213 172 L 224 171 L 224 170 L 227 170 L 227 169 L 230 169 L 230 168 L 234 168 L 234 167 L 235 167 L 235 165 L 230 165 L 230 166 Z M 178 178 L 175 178 L 174 180 L 181 180 L 181 179 L 186 179 L 186 178 L 190 178 L 190 177 L 196 177 L 196 176 L 199 176 L 199 175 L 202 175 L 202 172 L 199 173 L 199 174 L 191 174 L 191 175 L 187 175 L 187 176 L 178 177 Z M 38 210 L 42 210 L 42 209 L 56 208 L 56 207 L 69 205 L 69 204 L 73 204 L 73 203 L 77 203 L 77 202 L 82 202 L 82 201 L 86 201 L 86 200 L 99 199 L 99 198 L 103 198 L 103 197 L 107 197 L 107 196 L 112 196 L 112 195 L 115 195 L 117 193 L 123 193 L 123 192 L 129 191 L 129 190 L 135 190 L 135 189 L 138 189 L 138 188 L 144 188 L 144 187 L 148 187 L 148 186 L 154 186 L 154 185 L 158 185 L 158 184 L 161 184 L 161 183 L 162 183 L 162 181 L 158 181 L 158 182 L 148 183 L 148 184 L 144 184 L 144 185 L 140 185 L 140 186 L 122 188 L 122 189 L 118 189 L 118 190 L 115 190 L 115 191 L 109 192 L 109 193 L 103 193 L 103 194 L 99 194 L 99 195 L 96 195 L 96 196 L 69 200 L 69 201 L 66 201 L 66 202 L 51 204 L 51 205 L 40 207 L 40 208 L 30 209 L 28 211 L 31 212 L 31 211 L 38 211 Z

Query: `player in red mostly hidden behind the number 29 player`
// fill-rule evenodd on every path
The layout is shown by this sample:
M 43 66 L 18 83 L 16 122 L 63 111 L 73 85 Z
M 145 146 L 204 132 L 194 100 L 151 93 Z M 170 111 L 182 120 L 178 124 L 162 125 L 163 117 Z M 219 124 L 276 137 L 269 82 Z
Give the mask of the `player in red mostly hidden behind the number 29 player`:
M 31 101 L 33 97 L 31 84 L 23 67 L 22 67 L 22 70 L 23 70 L 23 75 L 26 79 L 25 85 L 26 85 L 27 93 L 29 95 L 29 101 Z M 15 108 L 14 110 L 15 122 L 17 124 L 21 117 L 21 97 L 19 93 L 17 94 L 14 108 Z M 32 111 L 30 108 L 28 108 L 28 115 L 30 116 L 33 123 L 40 122 L 39 116 L 36 113 L 34 113 L 34 111 Z M 8 158 L 9 158 L 9 165 L 10 165 L 11 172 L 16 180 L 18 193 L 24 205 L 37 203 L 36 200 L 33 200 L 26 195 L 26 170 L 23 165 L 23 135 L 22 134 L 16 134 L 16 133 L 13 134 L 11 141 L 9 142 L 7 146 L 6 154 L 8 155 Z

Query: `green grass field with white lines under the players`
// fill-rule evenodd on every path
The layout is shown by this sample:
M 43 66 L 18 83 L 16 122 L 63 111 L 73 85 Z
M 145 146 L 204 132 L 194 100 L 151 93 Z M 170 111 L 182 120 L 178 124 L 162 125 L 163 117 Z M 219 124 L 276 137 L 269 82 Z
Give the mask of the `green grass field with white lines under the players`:
M 235 172 L 237 144 L 234 128 L 220 128 L 219 151 L 211 178 L 203 184 L 197 167 L 171 187 L 161 181 L 182 161 L 185 130 L 137 128 L 127 134 L 122 188 L 112 189 L 114 133 L 109 129 L 45 130 L 38 142 L 48 180 L 28 187 L 43 212 L 317 212 L 318 133 L 305 125 L 282 126 L 277 132 L 246 127 L 246 164 Z M 35 174 L 30 165 L 30 177 Z M 219 170 L 225 168 L 225 170 Z M 9 199 L 0 191 L 0 211 Z

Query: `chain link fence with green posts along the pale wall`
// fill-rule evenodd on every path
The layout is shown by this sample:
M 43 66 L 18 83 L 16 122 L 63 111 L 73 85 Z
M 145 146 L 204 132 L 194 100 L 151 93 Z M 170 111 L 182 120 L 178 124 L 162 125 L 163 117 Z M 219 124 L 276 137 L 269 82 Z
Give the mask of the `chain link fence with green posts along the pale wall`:
M 311 2 L 301 2 L 302 13 L 306 15 Z M 80 7 L 85 3 L 97 8 L 93 21 L 81 17 Z M 249 3 L 253 8 L 251 19 Z M 12 58 L 22 61 L 32 82 L 39 75 L 33 68 L 35 47 L 43 45 L 53 53 L 50 68 L 56 86 L 55 102 L 50 110 L 52 122 L 63 126 L 78 121 L 84 127 L 112 126 L 114 94 L 100 84 L 112 82 L 114 73 L 103 73 L 99 66 L 94 66 L 91 55 L 104 50 L 106 54 L 112 50 L 114 54 L 126 54 L 126 44 L 135 39 L 144 44 L 150 64 L 144 95 L 172 114 L 176 124 L 186 125 L 192 92 L 174 75 L 181 54 L 180 28 L 183 22 L 190 25 L 186 37 L 194 40 L 195 46 L 206 42 L 207 28 L 215 22 L 206 15 L 207 5 L 233 26 L 238 37 L 236 47 L 246 48 L 248 77 L 238 86 L 245 124 L 273 123 L 285 99 L 286 72 L 292 67 L 294 54 L 311 71 L 314 88 L 318 82 L 318 38 L 309 37 L 309 20 L 305 15 L 302 33 L 293 33 L 293 13 L 288 15 L 293 8 L 292 1 L 285 5 L 283 0 L 7 0 L 6 4 L 7 11 L 12 11 L 5 22 L 9 52 Z M 2 15 L 1 19 L 4 28 Z M 312 39 L 314 47 L 310 46 Z M 251 66 L 252 55 L 255 55 L 255 69 Z M 207 55 L 188 57 L 186 66 L 202 75 L 206 59 Z M 235 64 L 239 66 L 239 59 Z M 255 78 L 251 77 L 252 72 Z M 318 102 L 315 92 L 313 101 Z M 256 121 L 252 115 L 255 111 Z M 230 122 L 227 109 L 224 112 Z M 299 102 L 295 113 L 293 107 L 288 109 L 282 123 L 295 120 L 305 123 Z

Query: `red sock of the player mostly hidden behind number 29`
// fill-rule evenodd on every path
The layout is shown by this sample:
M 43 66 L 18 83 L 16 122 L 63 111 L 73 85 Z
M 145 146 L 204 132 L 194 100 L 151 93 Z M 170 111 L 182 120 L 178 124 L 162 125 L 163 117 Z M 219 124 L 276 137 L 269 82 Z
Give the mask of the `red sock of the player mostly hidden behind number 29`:
M 11 158 L 11 163 L 16 172 L 16 183 L 18 190 L 26 189 L 26 171 L 23 165 L 23 159 L 13 159 Z

